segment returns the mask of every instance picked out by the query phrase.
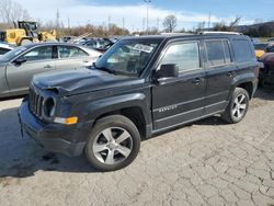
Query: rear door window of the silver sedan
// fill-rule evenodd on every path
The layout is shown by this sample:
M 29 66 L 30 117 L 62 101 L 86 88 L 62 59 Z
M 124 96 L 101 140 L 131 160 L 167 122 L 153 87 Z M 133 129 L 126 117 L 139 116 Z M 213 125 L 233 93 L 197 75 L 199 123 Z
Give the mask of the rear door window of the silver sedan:
M 73 46 L 58 46 L 58 57 L 64 58 L 75 58 L 89 56 L 85 52 Z

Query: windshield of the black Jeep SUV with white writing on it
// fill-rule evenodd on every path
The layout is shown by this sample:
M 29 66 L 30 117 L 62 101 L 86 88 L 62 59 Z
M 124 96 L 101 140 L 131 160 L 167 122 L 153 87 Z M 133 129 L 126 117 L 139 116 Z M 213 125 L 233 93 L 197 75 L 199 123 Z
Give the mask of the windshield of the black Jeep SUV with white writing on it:
M 139 77 L 159 44 L 159 39 L 119 41 L 94 66 L 112 73 Z

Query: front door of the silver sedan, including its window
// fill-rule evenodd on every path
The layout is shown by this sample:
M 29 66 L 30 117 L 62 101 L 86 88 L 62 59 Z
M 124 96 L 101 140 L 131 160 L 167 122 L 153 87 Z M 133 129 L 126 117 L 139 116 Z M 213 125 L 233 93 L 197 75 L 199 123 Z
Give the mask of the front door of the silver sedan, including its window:
M 10 92 L 25 93 L 34 75 L 55 70 L 53 46 L 35 47 L 18 58 L 25 58 L 22 64 L 7 66 L 7 81 Z

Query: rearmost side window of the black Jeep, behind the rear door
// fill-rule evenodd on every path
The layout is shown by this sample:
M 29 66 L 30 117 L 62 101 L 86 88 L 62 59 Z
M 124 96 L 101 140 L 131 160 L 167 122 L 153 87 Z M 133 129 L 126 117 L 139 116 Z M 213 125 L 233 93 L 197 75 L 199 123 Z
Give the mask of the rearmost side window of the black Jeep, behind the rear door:
M 254 58 L 254 54 L 248 41 L 235 39 L 233 48 L 237 62 L 247 62 Z

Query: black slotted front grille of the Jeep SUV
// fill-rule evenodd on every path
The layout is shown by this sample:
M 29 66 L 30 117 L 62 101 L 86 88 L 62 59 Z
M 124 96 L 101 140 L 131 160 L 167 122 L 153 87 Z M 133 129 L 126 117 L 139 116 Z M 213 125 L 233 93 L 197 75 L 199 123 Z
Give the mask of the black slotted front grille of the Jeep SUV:
M 30 90 L 30 108 L 34 115 L 42 118 L 44 98 L 34 89 Z

